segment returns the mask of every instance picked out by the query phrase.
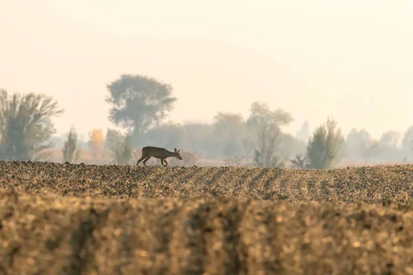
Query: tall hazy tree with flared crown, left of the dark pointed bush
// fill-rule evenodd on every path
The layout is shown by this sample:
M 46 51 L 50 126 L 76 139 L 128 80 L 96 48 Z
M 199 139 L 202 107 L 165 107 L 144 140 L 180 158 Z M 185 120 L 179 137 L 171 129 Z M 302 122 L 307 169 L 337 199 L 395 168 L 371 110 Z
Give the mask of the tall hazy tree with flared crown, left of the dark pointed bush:
M 255 133 L 254 161 L 257 166 L 284 166 L 276 155 L 280 143 L 281 129 L 293 121 L 290 113 L 282 109 L 271 111 L 267 104 L 253 102 L 251 104 L 251 115 L 246 124 L 253 128 Z

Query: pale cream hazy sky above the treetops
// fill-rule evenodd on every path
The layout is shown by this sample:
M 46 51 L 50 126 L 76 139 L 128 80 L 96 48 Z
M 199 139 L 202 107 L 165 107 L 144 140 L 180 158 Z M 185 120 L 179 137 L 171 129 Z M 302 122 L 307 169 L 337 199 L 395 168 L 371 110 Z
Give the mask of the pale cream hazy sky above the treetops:
M 169 119 L 290 111 L 295 133 L 332 115 L 344 133 L 413 124 L 413 0 L 0 0 L 0 87 L 41 92 L 85 135 L 112 124 L 120 74 L 173 86 Z

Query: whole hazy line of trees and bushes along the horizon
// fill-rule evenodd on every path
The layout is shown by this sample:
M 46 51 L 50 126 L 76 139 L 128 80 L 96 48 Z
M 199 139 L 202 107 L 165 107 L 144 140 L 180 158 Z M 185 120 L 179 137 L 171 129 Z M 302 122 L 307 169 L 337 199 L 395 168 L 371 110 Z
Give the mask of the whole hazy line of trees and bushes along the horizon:
M 104 149 L 110 151 L 116 164 L 134 164 L 134 148 L 147 145 L 182 148 L 186 159 L 191 159 L 184 165 L 195 164 L 200 157 L 222 159 L 226 165 L 281 168 L 413 160 L 413 126 L 403 135 L 386 131 L 374 140 L 364 129 L 352 129 L 344 137 L 337 122 L 327 118 L 313 133 L 306 121 L 291 135 L 282 129 L 293 122 L 293 115 L 281 108 L 271 110 L 263 102 L 252 102 L 247 118 L 219 112 L 211 124 L 179 124 L 165 121 L 177 100 L 171 85 L 147 76 L 121 75 L 107 85 L 107 91 L 108 119 L 118 129 L 108 129 L 105 134 L 93 129 L 85 141 L 78 140 L 74 126 L 63 138 L 53 136 L 56 131 L 51 118 L 64 112 L 56 100 L 34 93 L 10 96 L 1 90 L 0 159 L 47 160 L 50 155 L 45 149 L 57 145 L 62 148 L 63 162 L 76 162 L 83 144 L 94 159 L 99 159 Z

